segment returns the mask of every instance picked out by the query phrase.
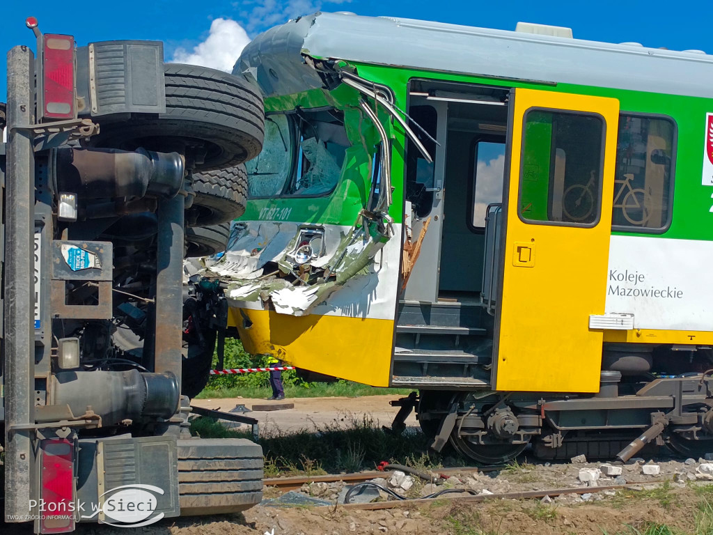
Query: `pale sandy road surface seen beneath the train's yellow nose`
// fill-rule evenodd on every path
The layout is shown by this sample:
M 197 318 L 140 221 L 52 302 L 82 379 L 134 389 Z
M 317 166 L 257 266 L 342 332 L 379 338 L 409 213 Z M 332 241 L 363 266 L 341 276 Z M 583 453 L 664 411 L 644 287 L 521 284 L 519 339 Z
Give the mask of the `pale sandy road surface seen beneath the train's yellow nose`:
M 391 407 L 389 402 L 399 399 L 398 395 L 364 396 L 364 397 L 297 397 L 283 399 L 282 401 L 267 401 L 265 399 L 250 399 L 243 397 L 226 397 L 220 399 L 193 399 L 192 404 L 205 409 L 220 409 L 229 412 L 236 405 L 242 404 L 247 409 L 253 405 L 294 403 L 294 409 L 279 411 L 252 411 L 244 413 L 245 416 L 255 418 L 260 422 L 260 432 L 295 432 L 300 429 L 314 429 L 324 424 L 349 424 L 345 419 L 346 414 L 368 413 L 378 425 L 391 426 L 398 407 Z M 229 422 L 223 422 L 229 424 Z M 416 416 L 411 413 L 406 419 L 407 427 L 418 427 Z M 248 429 L 245 424 L 230 424 L 231 428 Z

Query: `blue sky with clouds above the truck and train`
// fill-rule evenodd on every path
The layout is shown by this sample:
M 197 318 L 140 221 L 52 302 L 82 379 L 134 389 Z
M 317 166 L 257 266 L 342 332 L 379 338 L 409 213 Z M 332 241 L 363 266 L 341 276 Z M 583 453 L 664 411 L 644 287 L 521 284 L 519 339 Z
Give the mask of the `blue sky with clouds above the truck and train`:
M 56 0 L 6 0 L 0 10 L 3 26 L 0 49 L 7 51 L 17 44 L 34 49 L 34 36 L 24 26 L 26 17 L 33 15 L 39 19 L 43 32 L 73 34 L 78 45 L 110 39 L 155 39 L 164 41 L 166 61 L 191 54 L 200 61 L 206 56 L 215 56 L 213 51 L 220 49 L 222 43 L 241 46 L 250 37 L 275 24 L 322 9 L 508 30 L 515 29 L 518 21 L 527 21 L 570 26 L 578 39 L 614 43 L 637 41 L 645 46 L 701 49 L 713 54 L 712 0 L 119 0 L 96 1 L 91 9 L 77 11 L 74 7 Z M 237 24 L 222 21 L 219 21 L 222 26 L 214 24 L 216 35 L 194 51 L 195 46 L 210 38 L 215 19 L 230 19 Z M 225 52 L 225 46 L 222 49 Z M 222 63 L 230 61 L 233 58 L 228 52 Z M 0 100 L 4 101 L 5 60 L 1 63 Z M 713 73 L 711 79 L 713 86 Z

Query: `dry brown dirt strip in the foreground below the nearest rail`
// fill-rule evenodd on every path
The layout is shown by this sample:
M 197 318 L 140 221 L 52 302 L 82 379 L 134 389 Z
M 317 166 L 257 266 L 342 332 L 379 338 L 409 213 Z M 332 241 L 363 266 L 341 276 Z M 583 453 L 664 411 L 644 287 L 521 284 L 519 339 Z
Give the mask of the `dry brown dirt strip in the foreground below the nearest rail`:
M 344 507 L 275 509 L 257 506 L 245 514 L 160 521 L 139 529 L 81 526 L 79 535 L 119 535 L 127 531 L 147 535 L 614 535 L 637 534 L 651 524 L 666 524 L 677 533 L 695 534 L 699 492 L 694 486 L 672 489 L 670 502 L 644 494 L 622 499 L 609 496 L 592 503 L 557 503 L 538 500 L 493 500 L 459 504 L 441 499 L 415 508 L 384 511 Z M 274 530 L 274 531 L 273 531 Z M 634 531 L 638 530 L 638 531 Z M 19 531 L 3 531 L 15 535 Z M 28 533 L 28 531 L 24 531 Z M 665 532 L 668 533 L 668 532 Z M 707 533 L 707 532 L 705 532 Z

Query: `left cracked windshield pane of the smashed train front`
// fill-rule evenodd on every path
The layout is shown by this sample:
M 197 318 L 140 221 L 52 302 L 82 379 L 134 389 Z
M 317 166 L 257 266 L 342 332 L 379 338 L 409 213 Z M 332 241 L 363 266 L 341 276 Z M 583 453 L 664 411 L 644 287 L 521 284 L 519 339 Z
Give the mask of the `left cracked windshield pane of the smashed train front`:
M 262 151 L 245 164 L 248 197 L 275 197 L 282 193 L 292 171 L 294 148 L 290 133 L 289 120 L 284 113 L 265 117 Z

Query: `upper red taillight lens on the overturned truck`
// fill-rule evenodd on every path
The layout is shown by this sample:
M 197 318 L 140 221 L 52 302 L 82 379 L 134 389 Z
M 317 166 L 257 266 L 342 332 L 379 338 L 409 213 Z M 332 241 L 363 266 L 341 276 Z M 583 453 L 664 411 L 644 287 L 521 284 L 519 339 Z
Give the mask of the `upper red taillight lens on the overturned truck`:
M 45 34 L 43 38 L 42 116 L 74 118 L 74 38 Z

